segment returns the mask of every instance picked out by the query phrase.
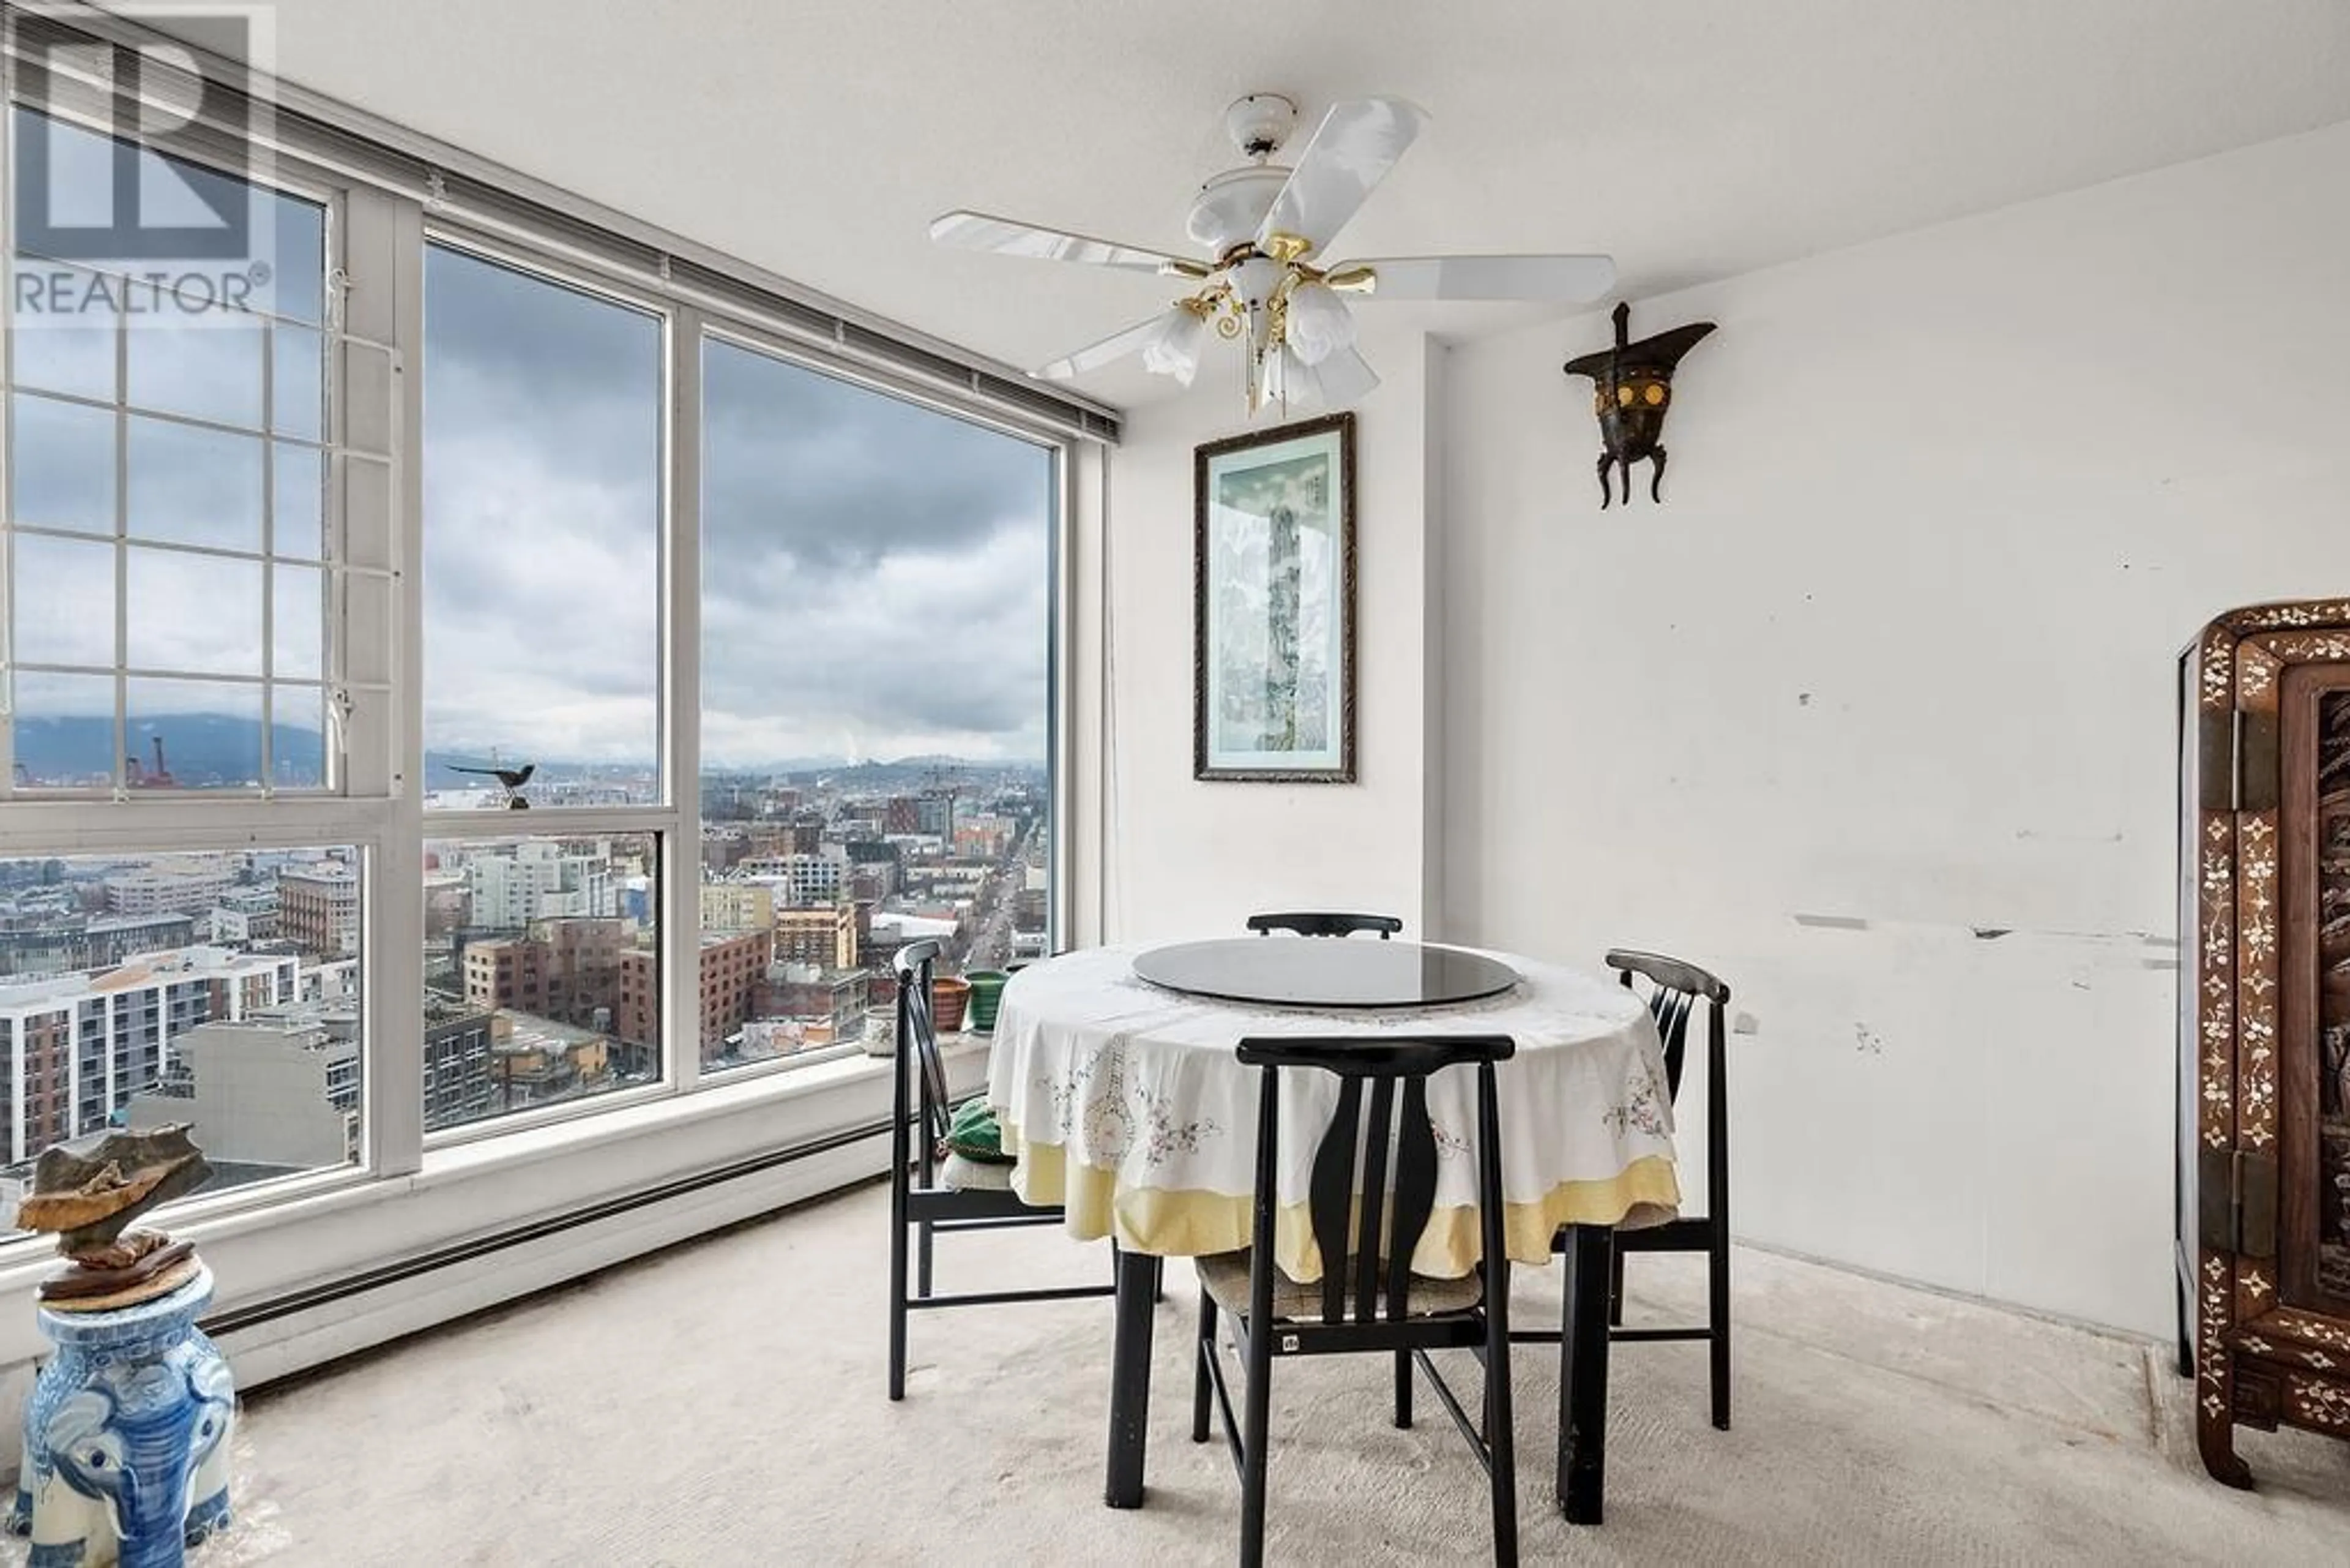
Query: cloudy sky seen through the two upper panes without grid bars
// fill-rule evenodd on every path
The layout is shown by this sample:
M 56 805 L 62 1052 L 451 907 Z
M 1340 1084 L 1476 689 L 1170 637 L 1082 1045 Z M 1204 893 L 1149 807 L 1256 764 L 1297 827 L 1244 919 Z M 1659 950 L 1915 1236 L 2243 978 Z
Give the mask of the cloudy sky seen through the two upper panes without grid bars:
M 705 350 L 703 759 L 1041 759 L 1050 454 Z M 425 745 L 656 750 L 660 329 L 435 249 Z

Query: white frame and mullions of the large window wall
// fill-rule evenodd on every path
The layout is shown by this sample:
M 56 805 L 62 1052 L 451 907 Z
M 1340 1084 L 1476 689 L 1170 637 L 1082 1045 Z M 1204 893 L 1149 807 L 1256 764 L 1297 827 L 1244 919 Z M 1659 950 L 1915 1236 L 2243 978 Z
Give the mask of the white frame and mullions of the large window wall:
M 134 21 L 92 14 L 73 26 L 103 42 L 153 42 L 155 33 Z M 9 38 L 14 45 L 14 38 Z M 7 54 L 0 108 L 19 103 L 99 134 L 113 134 L 110 92 L 92 82 L 52 75 L 35 101 L 26 89 L 14 47 Z M 839 1044 L 771 1063 L 728 1067 L 703 1081 L 700 987 L 677 983 L 698 976 L 700 954 L 700 449 L 703 449 L 703 348 L 724 341 L 862 390 L 987 428 L 1046 449 L 1050 458 L 1048 616 L 1046 616 L 1046 865 L 1048 947 L 1069 929 L 1076 900 L 1076 682 L 1067 668 L 1074 639 L 1074 538 L 1072 484 L 1090 449 L 1116 440 L 1116 414 L 1081 397 L 1041 388 L 1022 407 L 987 386 L 989 376 L 1018 381 L 1018 371 L 994 367 L 954 346 L 935 343 L 879 317 L 860 317 L 846 306 L 799 289 L 759 268 L 677 240 L 665 230 L 625 219 L 592 202 L 538 186 L 484 160 L 390 127 L 301 89 L 235 73 L 256 96 L 298 106 L 254 136 L 226 134 L 212 125 L 188 127 L 169 148 L 226 174 L 254 179 L 273 190 L 317 202 L 324 209 L 327 296 L 320 324 L 329 341 L 324 371 L 324 421 L 320 447 L 329 451 L 327 529 L 338 564 L 352 578 L 378 583 L 378 597 L 362 616 L 348 592 L 334 595 L 331 637 L 322 684 L 341 684 L 355 703 L 341 736 L 329 736 L 334 790 L 221 790 L 167 797 L 162 792 L 70 795 L 38 792 L 7 802 L 0 811 L 0 856 L 68 853 L 167 853 L 228 849 L 306 849 L 350 844 L 362 860 L 360 898 L 360 1009 L 362 1009 L 362 1133 L 360 1159 L 273 1178 L 172 1206 L 174 1222 L 244 1229 L 268 1225 L 270 1211 L 317 1213 L 320 1201 L 362 1201 L 364 1190 L 404 1190 L 428 1171 L 428 1157 L 458 1145 L 512 1138 L 515 1159 L 545 1159 L 552 1147 L 590 1145 L 602 1135 L 634 1138 L 642 1117 L 665 1100 L 710 1098 L 710 1114 L 736 1114 L 745 1103 L 797 1100 L 839 1081 L 839 1072 L 886 1074 L 886 1063 L 853 1063 L 853 1044 Z M 167 101 L 169 82 L 148 89 Z M 251 148 L 266 169 L 247 172 Z M 0 252 L 12 254 L 12 132 L 0 113 Z M 430 162 L 418 162 L 428 153 Z M 449 195 L 442 169 L 456 169 L 461 193 Z M 663 799 L 649 806 L 538 809 L 529 825 L 510 816 L 423 811 L 423 270 L 432 244 L 446 244 L 555 284 L 580 289 L 644 310 L 663 324 L 660 409 L 660 590 L 658 590 L 658 743 Z M 674 270 L 672 270 L 674 261 Z M 360 287 L 352 287 L 352 280 Z M 832 313 L 830 320 L 825 313 Z M 5 336 L 5 334 L 0 334 Z M 884 353 L 898 350 L 898 357 Z M 945 350 L 945 353 L 935 353 Z M 383 386 L 357 395 L 352 360 L 381 355 Z M 924 357 L 928 355 L 928 360 Z M 935 362 L 935 364 L 933 364 Z M 964 369 L 968 367 L 968 369 Z M 7 362 L 0 362 L 0 371 Z M 949 374 L 952 371 L 952 374 Z M 1001 374 L 999 374 L 1001 371 Z M 7 381 L 0 374 L 0 381 Z M 118 400 L 127 388 L 118 383 Z M 1027 393 L 1020 383 L 1013 390 Z M 1055 416 L 1058 411 L 1058 416 Z M 367 425 L 367 421 L 374 421 Z M 355 437 L 381 433 L 374 447 Z M 381 510 L 355 512 L 352 463 L 376 463 Z M 120 465 L 120 458 L 118 458 Z M 1090 468 L 1088 468 L 1090 473 Z M 0 442 L 0 487 L 7 451 Z M 0 491 L 5 494 L 5 491 Z M 362 559 L 364 557 L 364 559 Z M 355 668 L 357 665 L 357 668 Z M 0 764 L 9 743 L 0 736 Z M 5 785 L 0 785 L 5 792 Z M 585 1095 L 548 1107 L 484 1117 L 475 1124 L 423 1128 L 423 846 L 486 837 L 646 832 L 656 839 L 663 976 L 658 1084 Z M 811 1067 L 832 1072 L 808 1074 Z M 776 1079 L 776 1081 L 768 1081 Z M 684 1105 L 677 1112 L 700 1117 Z M 595 1121 L 613 1117 L 599 1133 Z M 571 1124 L 580 1126 L 571 1126 Z M 475 1166 L 494 1150 L 468 1150 L 461 1166 Z M 435 1161 L 439 1166 L 444 1161 Z M 42 1241 L 0 1241 L 0 1272 L 35 1262 Z

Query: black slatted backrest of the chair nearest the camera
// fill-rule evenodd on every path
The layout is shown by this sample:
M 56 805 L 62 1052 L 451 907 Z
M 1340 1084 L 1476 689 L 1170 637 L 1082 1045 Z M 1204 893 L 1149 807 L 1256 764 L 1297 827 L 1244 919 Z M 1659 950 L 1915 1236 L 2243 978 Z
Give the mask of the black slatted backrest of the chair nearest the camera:
M 1274 1211 L 1278 1197 L 1271 1190 L 1271 1166 L 1264 1150 L 1278 1128 L 1271 1126 L 1278 1107 L 1278 1074 L 1285 1070 L 1318 1070 L 1340 1077 L 1337 1114 L 1314 1152 L 1314 1175 L 1307 1187 L 1307 1211 L 1314 1244 L 1321 1248 L 1321 1319 L 1325 1324 L 1347 1321 L 1349 1286 L 1354 1295 L 1354 1321 L 1370 1324 L 1379 1316 L 1384 1295 L 1389 1316 L 1405 1316 L 1410 1309 L 1410 1258 L 1436 1211 L 1436 1128 L 1429 1124 L 1429 1077 L 1455 1065 L 1473 1065 L 1480 1074 L 1478 1091 L 1478 1145 L 1495 1150 L 1499 1143 L 1499 1114 L 1492 1093 L 1492 1065 L 1516 1053 L 1516 1041 L 1506 1034 L 1462 1034 L 1436 1039 L 1283 1039 L 1260 1037 L 1241 1041 L 1241 1063 L 1264 1070 L 1262 1117 L 1257 1128 L 1257 1246 L 1271 1246 Z M 1365 1117 L 1363 1084 L 1370 1084 Z M 1398 1095 L 1396 1088 L 1403 1088 Z M 1389 1180 L 1389 1150 L 1394 1150 L 1394 1180 Z M 1499 1164 L 1492 1164 L 1499 1173 Z M 1480 1204 L 1502 1204 L 1499 1178 L 1485 1192 L 1480 1164 Z M 1384 1244 L 1382 1244 L 1384 1239 Z M 1260 1253 L 1269 1260 L 1271 1253 Z M 1386 1291 L 1379 1291 L 1384 1260 Z M 1260 1267 L 1262 1272 L 1262 1267 Z

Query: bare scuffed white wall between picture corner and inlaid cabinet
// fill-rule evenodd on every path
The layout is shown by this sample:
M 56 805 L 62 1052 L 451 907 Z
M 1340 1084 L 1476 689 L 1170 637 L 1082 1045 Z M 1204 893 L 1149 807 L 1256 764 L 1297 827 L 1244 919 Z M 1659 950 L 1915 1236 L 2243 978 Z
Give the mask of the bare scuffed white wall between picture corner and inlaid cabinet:
M 1598 510 L 1605 317 L 1452 353 L 1438 924 L 1732 983 L 1741 1234 L 2169 1333 L 2174 656 L 2350 592 L 2345 188 L 2334 127 L 1638 301 L 1720 322 L 1664 508 Z

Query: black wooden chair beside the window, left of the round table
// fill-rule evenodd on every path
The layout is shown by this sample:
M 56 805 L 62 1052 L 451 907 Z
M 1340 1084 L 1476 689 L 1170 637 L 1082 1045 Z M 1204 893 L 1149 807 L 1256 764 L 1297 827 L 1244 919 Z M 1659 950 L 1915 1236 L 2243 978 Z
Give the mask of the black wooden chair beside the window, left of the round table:
M 888 1175 L 888 1396 L 905 1399 L 905 1319 L 921 1307 L 985 1307 L 1114 1295 L 1116 1284 L 1034 1291 L 973 1291 L 938 1295 L 931 1288 L 931 1239 L 938 1232 L 1060 1225 L 1062 1208 L 1025 1204 L 1013 1192 L 1010 1166 L 989 1166 L 947 1150 L 952 1100 L 947 1063 L 931 1020 L 931 973 L 938 943 L 907 943 L 891 966 L 898 973 L 898 1088 L 891 1103 Z M 914 1288 L 907 1291 L 907 1232 L 914 1234 Z M 1112 1244 L 1116 1255 L 1116 1244 Z

